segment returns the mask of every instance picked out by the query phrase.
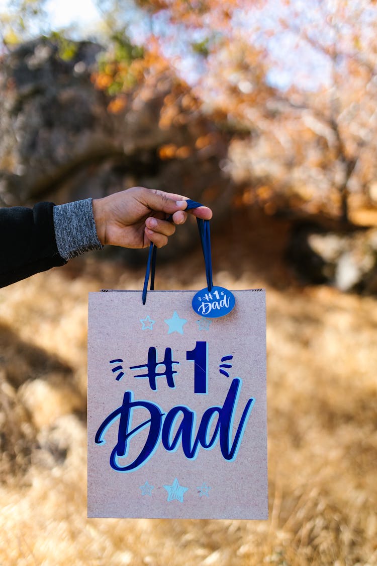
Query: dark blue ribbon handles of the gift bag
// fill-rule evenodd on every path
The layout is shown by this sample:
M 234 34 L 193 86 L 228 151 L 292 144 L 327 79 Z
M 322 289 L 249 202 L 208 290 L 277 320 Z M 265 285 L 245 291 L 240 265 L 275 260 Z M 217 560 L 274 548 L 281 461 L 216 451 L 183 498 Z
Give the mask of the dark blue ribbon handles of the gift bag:
M 189 211 L 192 208 L 202 207 L 203 205 L 197 203 L 195 200 L 187 200 L 187 208 L 185 210 Z M 170 215 L 167 220 L 172 221 L 172 215 Z M 212 281 L 212 259 L 211 259 L 211 234 L 210 234 L 210 221 L 202 220 L 201 218 L 196 219 L 198 224 L 198 230 L 200 235 L 200 241 L 203 250 L 204 263 L 206 266 L 206 278 L 207 278 L 207 288 L 209 291 L 213 288 Z M 142 289 L 142 304 L 145 305 L 146 293 L 148 290 L 149 276 L 150 276 L 150 290 L 154 290 L 154 275 L 156 271 L 156 256 L 157 247 L 151 242 L 149 246 L 148 261 L 146 264 L 146 272 L 144 279 L 144 287 Z

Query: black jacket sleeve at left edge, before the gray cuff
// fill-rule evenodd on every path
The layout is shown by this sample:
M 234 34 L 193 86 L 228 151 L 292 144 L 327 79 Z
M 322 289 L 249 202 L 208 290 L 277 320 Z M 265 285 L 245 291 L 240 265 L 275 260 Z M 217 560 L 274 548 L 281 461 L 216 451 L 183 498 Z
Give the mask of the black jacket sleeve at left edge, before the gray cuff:
M 67 263 L 58 252 L 53 208 L 0 208 L 0 287 Z

